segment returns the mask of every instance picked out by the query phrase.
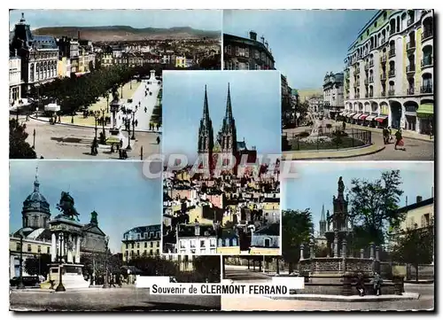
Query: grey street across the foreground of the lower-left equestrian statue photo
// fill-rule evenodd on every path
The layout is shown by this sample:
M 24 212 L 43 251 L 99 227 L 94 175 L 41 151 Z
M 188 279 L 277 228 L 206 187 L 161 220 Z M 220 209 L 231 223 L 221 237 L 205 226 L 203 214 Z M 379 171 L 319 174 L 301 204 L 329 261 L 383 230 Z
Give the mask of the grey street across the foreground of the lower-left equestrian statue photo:
M 220 308 L 219 296 L 150 295 L 149 289 L 135 287 L 73 289 L 65 293 L 13 290 L 10 294 L 10 309 L 14 311 L 172 311 Z

